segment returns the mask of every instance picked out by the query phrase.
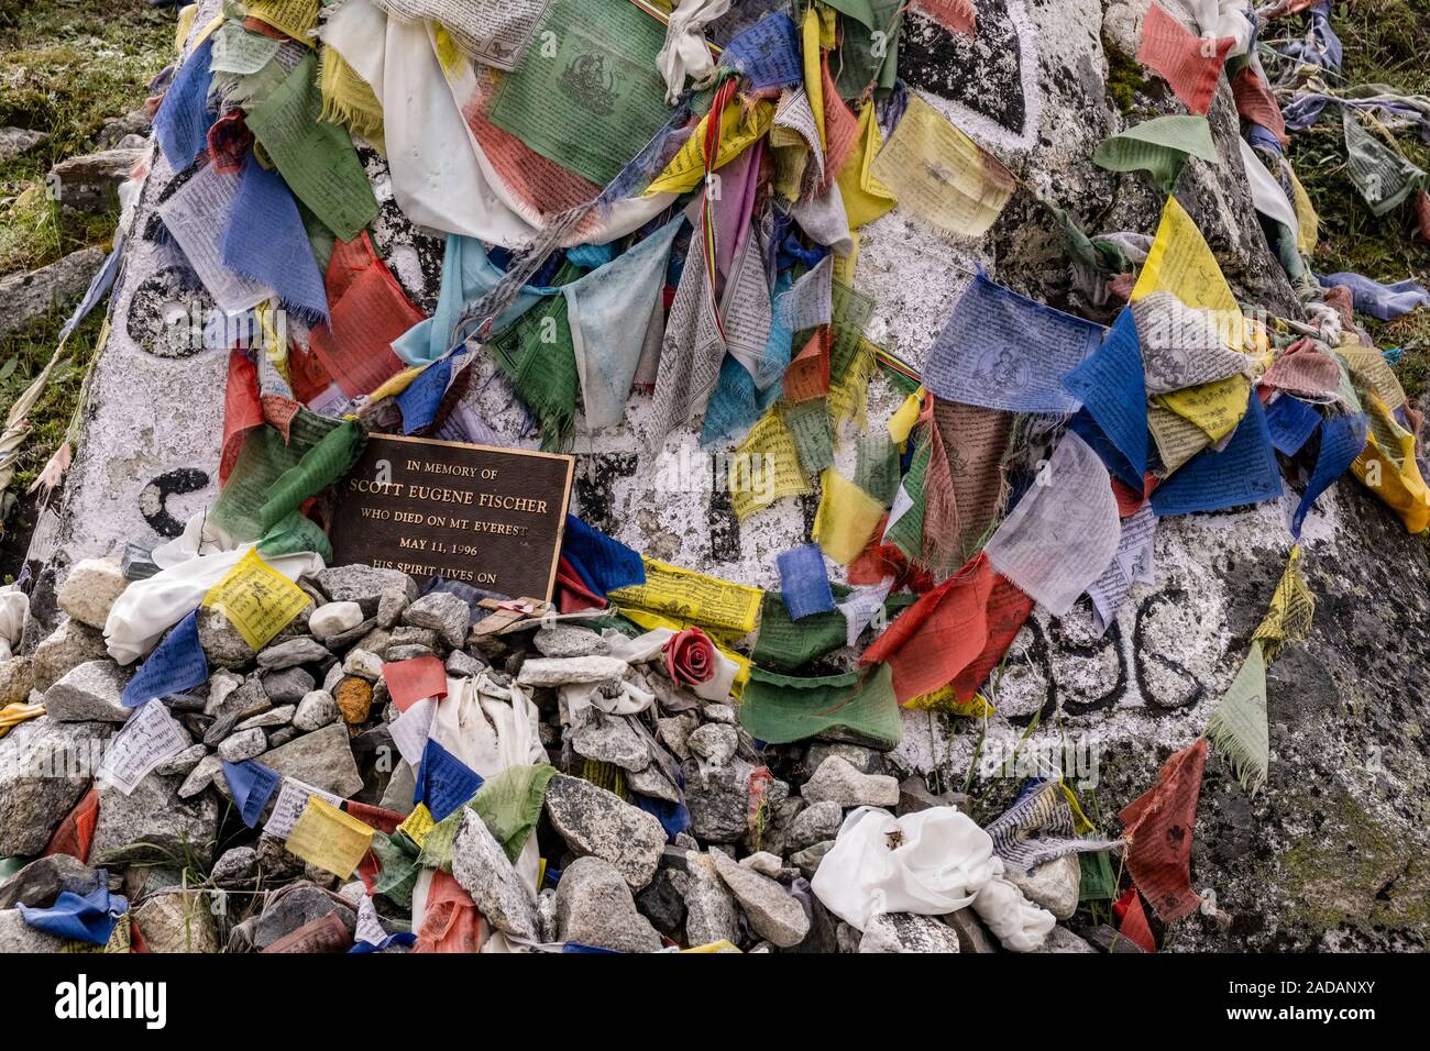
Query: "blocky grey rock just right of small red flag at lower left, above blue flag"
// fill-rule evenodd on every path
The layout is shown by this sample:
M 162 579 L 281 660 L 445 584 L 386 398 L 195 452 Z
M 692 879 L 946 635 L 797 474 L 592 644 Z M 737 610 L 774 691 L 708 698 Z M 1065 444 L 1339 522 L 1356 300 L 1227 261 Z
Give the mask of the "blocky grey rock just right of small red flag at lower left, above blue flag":
M 129 795 L 102 788 L 90 861 L 159 861 L 190 851 L 207 864 L 219 832 L 219 804 L 212 795 L 180 799 L 180 784 L 177 776 L 150 774 Z

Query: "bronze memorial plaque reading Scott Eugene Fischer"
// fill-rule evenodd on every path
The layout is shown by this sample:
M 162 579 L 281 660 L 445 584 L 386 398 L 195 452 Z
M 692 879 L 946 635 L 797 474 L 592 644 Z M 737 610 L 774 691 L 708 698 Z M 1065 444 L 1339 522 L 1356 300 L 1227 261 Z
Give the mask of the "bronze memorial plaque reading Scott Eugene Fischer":
M 342 480 L 333 565 L 551 601 L 572 456 L 372 435 Z

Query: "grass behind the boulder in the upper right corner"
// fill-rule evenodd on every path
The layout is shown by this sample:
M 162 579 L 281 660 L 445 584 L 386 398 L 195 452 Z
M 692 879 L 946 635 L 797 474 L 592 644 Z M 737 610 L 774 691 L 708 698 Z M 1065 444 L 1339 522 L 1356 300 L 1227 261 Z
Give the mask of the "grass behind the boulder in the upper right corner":
M 1430 94 L 1427 7 L 1424 0 L 1377 0 L 1353 7 L 1337 3 L 1331 26 L 1344 44 L 1346 64 L 1333 86 L 1380 83 L 1407 94 Z M 1284 36 L 1271 36 L 1278 34 Z M 1396 144 L 1430 172 L 1430 146 L 1419 134 L 1401 132 Z M 1317 273 L 1351 270 L 1380 282 L 1411 277 L 1430 285 L 1430 243 L 1414 235 L 1410 204 L 1377 219 L 1351 184 L 1338 113 L 1327 110 L 1314 127 L 1293 134 L 1287 157 L 1321 217 L 1321 239 L 1311 260 Z M 1397 372 L 1410 398 L 1424 393 L 1430 382 L 1430 310 L 1394 322 L 1364 316 L 1357 320 L 1379 347 L 1404 352 Z

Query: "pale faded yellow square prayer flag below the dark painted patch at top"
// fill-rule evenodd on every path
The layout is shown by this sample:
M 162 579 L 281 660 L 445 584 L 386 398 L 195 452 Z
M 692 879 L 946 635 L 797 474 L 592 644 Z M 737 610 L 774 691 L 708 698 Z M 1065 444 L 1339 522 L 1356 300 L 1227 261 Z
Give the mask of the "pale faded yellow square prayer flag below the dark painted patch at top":
M 917 94 L 869 173 L 901 206 L 960 237 L 984 236 L 1018 187 L 997 157 Z

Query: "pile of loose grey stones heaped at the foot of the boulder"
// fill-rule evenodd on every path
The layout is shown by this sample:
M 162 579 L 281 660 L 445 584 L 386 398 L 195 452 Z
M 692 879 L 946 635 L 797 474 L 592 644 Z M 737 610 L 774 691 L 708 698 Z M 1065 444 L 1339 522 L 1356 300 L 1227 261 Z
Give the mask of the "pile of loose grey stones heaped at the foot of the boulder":
M 102 751 L 134 711 L 120 701 L 134 669 L 107 656 L 102 633 L 127 583 L 117 561 L 79 563 L 59 591 L 59 628 L 31 655 L 0 665 L 7 696 L 46 706 L 0 739 L 0 858 L 39 855 L 90 786 L 93 771 L 83 765 L 40 769 L 37 761 Z M 99 791 L 86 862 L 43 857 L 0 884 L 0 951 L 59 948 L 60 939 L 21 922 L 16 905 L 44 907 L 60 888 L 93 879 L 93 869 L 126 895 L 152 951 L 282 948 L 315 924 L 333 925 L 329 915 L 350 939 L 363 884 L 305 864 L 262 822 L 246 828 L 229 805 L 222 764 L 255 759 L 345 799 L 410 812 L 413 771 L 393 745 L 399 712 L 382 669 L 429 655 L 449 678 L 476 676 L 526 696 L 558 771 L 536 839 L 559 882 L 548 879 L 536 897 L 476 812 L 463 815 L 452 872 L 496 929 L 531 944 L 626 952 L 726 942 L 745 951 L 998 951 L 967 908 L 944 918 L 879 915 L 861 935 L 811 892 L 851 808 L 902 815 L 970 806 L 967 796 L 931 794 L 878 748 L 842 731 L 844 739 L 759 748 L 736 701 L 702 699 L 659 661 L 613 655 L 609 626 L 602 633 L 581 621 L 533 619 L 499 635 L 473 632 L 486 611 L 366 566 L 323 569 L 299 586 L 310 606 L 257 652 L 223 613 L 200 609 L 209 681 L 163 699 L 192 744 L 132 794 Z M 646 695 L 654 704 L 618 714 L 622 698 Z M 672 812 L 684 806 L 685 831 L 669 835 L 654 808 L 636 805 L 642 796 Z M 1078 872 L 1077 859 L 1064 858 L 1012 878 L 1067 919 Z M 372 905 L 388 932 L 410 928 L 396 902 L 379 894 Z M 1093 951 L 1061 925 L 1048 949 Z

